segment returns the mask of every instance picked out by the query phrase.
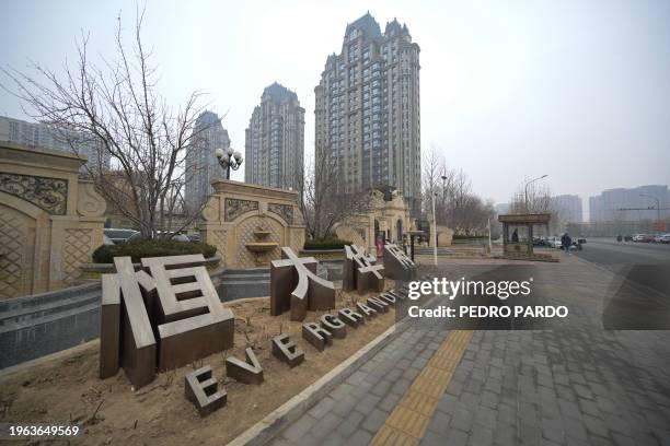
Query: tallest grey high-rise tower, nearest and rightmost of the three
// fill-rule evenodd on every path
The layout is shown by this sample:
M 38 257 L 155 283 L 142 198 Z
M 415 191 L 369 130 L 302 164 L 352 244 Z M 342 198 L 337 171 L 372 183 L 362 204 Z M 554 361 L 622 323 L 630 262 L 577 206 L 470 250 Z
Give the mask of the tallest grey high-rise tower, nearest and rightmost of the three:
M 314 89 L 316 157 L 336 166 L 344 193 L 400 189 L 420 212 L 419 46 L 396 20 L 367 13 L 347 25 L 342 52 Z

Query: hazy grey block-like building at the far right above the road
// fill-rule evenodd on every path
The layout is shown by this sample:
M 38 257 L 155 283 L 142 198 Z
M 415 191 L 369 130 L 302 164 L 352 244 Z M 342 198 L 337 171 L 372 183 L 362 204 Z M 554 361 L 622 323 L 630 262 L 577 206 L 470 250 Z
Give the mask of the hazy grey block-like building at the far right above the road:
M 646 197 L 642 197 L 646 196 Z M 656 220 L 656 200 L 658 198 L 661 208 L 670 207 L 670 195 L 667 185 L 639 186 L 636 188 L 608 189 L 600 195 L 589 198 L 589 221 L 613 222 L 613 221 L 642 221 Z M 635 208 L 642 210 L 622 209 Z M 668 211 L 661 211 L 661 219 L 670 215 Z

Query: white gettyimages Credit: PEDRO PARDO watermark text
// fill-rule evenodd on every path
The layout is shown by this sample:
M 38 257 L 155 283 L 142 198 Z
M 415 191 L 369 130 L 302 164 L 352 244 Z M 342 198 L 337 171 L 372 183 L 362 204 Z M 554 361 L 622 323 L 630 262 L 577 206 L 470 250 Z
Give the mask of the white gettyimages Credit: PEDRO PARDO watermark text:
M 455 307 L 439 305 L 432 308 L 423 308 L 412 305 L 407 314 L 412 318 L 565 318 L 568 308 L 564 305 L 523 305 L 500 304 L 509 297 L 528 297 L 532 293 L 533 278 L 517 281 L 484 281 L 484 280 L 448 280 L 435 278 L 432 281 L 409 282 L 407 297 L 413 301 L 421 296 L 444 296 L 454 301 L 459 296 L 488 301 L 487 305 L 463 305 Z M 497 301 L 496 301 L 497 297 Z M 493 301 L 493 302 L 490 302 Z

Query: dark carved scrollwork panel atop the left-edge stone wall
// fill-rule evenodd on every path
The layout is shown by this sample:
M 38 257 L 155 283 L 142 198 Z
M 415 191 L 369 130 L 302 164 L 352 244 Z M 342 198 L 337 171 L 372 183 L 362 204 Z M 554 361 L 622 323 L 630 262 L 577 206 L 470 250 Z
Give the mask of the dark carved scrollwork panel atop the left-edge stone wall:
M 0 172 L 0 190 L 53 215 L 65 215 L 67 212 L 68 181 L 65 179 Z

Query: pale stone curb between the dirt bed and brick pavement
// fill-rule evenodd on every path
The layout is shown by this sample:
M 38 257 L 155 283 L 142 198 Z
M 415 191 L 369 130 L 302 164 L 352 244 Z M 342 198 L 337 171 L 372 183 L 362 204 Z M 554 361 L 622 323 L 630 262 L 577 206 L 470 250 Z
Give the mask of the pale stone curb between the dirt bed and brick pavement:
M 429 298 L 421 306 L 428 306 L 437 296 Z M 413 320 L 408 317 L 395 322 L 348 360 L 322 376 L 316 383 L 308 386 L 300 394 L 270 412 L 263 420 L 233 438 L 228 446 L 262 446 L 277 436 L 288 424 L 302 416 L 310 408 L 323 399 L 336 386 L 344 383 L 354 372 L 372 359 L 380 350 L 402 334 Z

